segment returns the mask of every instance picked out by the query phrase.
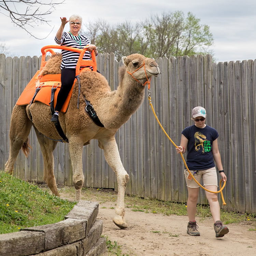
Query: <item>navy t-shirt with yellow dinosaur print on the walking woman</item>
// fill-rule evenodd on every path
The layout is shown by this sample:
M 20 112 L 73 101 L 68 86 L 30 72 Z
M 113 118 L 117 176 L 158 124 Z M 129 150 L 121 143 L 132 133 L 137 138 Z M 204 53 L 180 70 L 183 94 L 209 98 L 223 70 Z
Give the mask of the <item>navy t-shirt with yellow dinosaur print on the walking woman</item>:
M 218 132 L 208 125 L 204 128 L 191 125 L 181 133 L 188 139 L 186 163 L 189 170 L 207 170 L 214 167 L 212 142 L 219 137 Z

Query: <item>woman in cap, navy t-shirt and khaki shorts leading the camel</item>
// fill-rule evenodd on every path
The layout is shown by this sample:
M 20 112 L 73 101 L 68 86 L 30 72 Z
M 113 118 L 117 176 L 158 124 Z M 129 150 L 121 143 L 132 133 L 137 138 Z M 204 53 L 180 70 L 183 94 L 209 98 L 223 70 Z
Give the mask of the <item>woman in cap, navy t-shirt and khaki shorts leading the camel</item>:
M 221 179 L 227 181 L 223 171 L 221 155 L 218 150 L 218 132 L 205 124 L 206 111 L 201 106 L 192 110 L 194 125 L 186 127 L 182 131 L 181 145 L 176 147 L 177 153 L 184 154 L 187 150 L 187 166 L 195 179 L 200 182 L 203 179 L 205 188 L 211 191 L 217 191 L 217 174 L 214 161 L 221 175 Z M 199 185 L 190 176 L 188 171 L 184 171 L 188 189 L 187 212 L 189 222 L 187 233 L 190 236 L 200 236 L 197 230 L 196 209 L 199 195 Z M 212 217 L 214 220 L 215 237 L 223 237 L 228 233 L 228 228 L 220 221 L 221 213 L 217 194 L 205 191 L 209 201 Z

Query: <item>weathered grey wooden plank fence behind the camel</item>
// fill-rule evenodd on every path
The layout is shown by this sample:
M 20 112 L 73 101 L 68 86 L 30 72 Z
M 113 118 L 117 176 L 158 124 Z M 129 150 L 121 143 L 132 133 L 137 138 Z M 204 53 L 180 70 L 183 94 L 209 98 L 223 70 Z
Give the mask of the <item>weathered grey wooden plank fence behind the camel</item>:
M 223 209 L 256 212 L 256 60 L 213 63 L 210 55 L 158 58 L 161 75 L 152 78 L 151 97 L 156 114 L 169 136 L 180 143 L 181 131 L 191 123 L 191 109 L 207 110 L 207 124 L 219 132 L 219 150 L 228 182 Z M 41 57 L 5 57 L 0 54 L 0 170 L 9 156 L 9 126 L 12 108 L 20 93 L 39 69 Z M 98 69 L 112 90 L 118 85 L 118 67 L 113 53 L 99 54 Z M 126 193 L 159 200 L 186 202 L 184 164 L 158 126 L 148 105 L 147 89 L 139 110 L 116 133 L 120 157 L 130 176 Z M 14 175 L 26 181 L 43 180 L 43 159 L 32 129 L 33 150 L 28 158 L 18 155 Z M 54 151 L 58 184 L 72 185 L 68 144 Z M 84 186 L 117 188 L 113 171 L 97 141 L 84 147 Z M 198 203 L 208 203 L 200 190 Z

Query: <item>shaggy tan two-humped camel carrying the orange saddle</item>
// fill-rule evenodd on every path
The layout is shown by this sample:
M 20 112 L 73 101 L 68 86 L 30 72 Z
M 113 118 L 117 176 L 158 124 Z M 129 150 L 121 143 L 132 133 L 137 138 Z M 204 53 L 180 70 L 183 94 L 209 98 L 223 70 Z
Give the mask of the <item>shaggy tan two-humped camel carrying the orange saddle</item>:
M 101 74 L 91 71 L 81 72 L 79 109 L 77 109 L 78 84 L 76 83 L 68 110 L 66 113 L 59 114 L 59 122 L 69 140 L 73 184 L 76 192 L 75 200 L 80 200 L 84 183 L 83 146 L 88 144 L 91 139 L 97 139 L 99 147 L 104 150 L 106 161 L 116 174 L 118 184 L 117 205 L 113 221 L 118 227 L 127 228 L 124 218 L 124 195 L 129 175 L 121 162 L 114 135 L 142 103 L 146 87 L 142 84 L 147 81 L 146 76 L 148 78 L 153 75 L 158 76 L 160 71 L 155 60 L 145 58 L 140 54 L 132 54 L 122 59 L 125 65 L 119 70 L 119 85 L 114 91 L 111 91 L 108 82 Z M 54 55 L 47 61 L 41 74 L 60 73 L 60 62 L 61 55 Z M 145 63 L 145 68 L 142 66 L 138 69 L 143 63 Z M 128 72 L 134 72 L 133 77 Z M 94 106 L 101 123 L 104 125 L 103 128 L 94 124 L 85 112 L 84 96 Z M 33 122 L 29 118 L 29 111 Z M 50 119 L 50 107 L 41 102 L 34 102 L 31 106 L 14 106 L 10 126 L 10 155 L 5 164 L 5 171 L 12 173 L 20 148 L 23 147 L 23 150 L 28 151 L 28 135 L 33 125 L 43 154 L 44 180 L 53 194 L 58 196 L 54 177 L 53 151 L 57 144 L 54 140 L 61 138 Z

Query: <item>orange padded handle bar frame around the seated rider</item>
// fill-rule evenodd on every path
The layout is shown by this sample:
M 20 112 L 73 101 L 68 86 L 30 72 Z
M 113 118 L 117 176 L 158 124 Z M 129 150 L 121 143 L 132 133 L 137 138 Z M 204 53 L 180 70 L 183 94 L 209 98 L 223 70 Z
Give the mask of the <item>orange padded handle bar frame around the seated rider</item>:
M 79 48 L 62 46 L 62 45 L 46 45 L 41 48 L 42 59 L 41 59 L 40 71 L 43 69 L 43 67 L 46 64 L 46 61 L 45 61 L 46 53 L 50 52 L 52 55 L 56 54 L 52 49 L 67 50 L 67 51 L 72 51 L 80 54 L 76 64 L 75 75 L 79 75 L 81 66 L 82 67 L 91 66 L 93 67 L 93 71 L 97 71 L 97 63 L 96 63 L 96 56 L 95 56 L 94 50 L 91 51 L 91 60 L 83 60 L 83 56 L 87 51 L 87 48 L 79 49 Z

